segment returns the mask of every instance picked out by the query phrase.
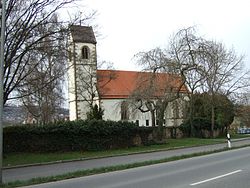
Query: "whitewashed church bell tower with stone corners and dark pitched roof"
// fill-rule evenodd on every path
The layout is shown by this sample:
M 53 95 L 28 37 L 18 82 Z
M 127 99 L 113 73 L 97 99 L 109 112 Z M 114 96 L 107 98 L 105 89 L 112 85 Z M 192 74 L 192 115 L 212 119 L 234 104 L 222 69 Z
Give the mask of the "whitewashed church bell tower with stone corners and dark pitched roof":
M 68 40 L 69 118 L 86 119 L 98 99 L 96 38 L 92 27 L 73 25 Z

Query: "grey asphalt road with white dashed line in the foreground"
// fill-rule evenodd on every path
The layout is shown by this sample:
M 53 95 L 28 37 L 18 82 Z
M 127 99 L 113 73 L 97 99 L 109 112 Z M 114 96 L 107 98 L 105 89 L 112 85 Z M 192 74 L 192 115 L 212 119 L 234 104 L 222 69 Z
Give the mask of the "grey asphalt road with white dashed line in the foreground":
M 249 188 L 250 147 L 30 187 Z

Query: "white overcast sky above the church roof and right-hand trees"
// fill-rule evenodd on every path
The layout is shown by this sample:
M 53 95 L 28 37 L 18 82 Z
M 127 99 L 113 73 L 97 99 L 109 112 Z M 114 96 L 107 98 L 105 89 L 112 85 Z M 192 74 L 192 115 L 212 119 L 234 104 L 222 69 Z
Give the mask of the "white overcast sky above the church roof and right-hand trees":
M 196 26 L 199 35 L 234 47 L 250 68 L 249 0 L 83 0 L 98 11 L 97 53 L 119 70 L 139 70 L 140 51 L 166 47 L 179 29 Z

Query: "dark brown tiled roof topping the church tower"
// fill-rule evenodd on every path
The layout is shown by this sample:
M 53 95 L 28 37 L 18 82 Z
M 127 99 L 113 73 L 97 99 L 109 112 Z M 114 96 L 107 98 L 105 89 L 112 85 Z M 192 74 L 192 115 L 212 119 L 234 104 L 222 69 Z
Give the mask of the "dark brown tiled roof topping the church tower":
M 72 25 L 70 26 L 73 42 L 86 42 L 96 44 L 96 38 L 92 27 Z

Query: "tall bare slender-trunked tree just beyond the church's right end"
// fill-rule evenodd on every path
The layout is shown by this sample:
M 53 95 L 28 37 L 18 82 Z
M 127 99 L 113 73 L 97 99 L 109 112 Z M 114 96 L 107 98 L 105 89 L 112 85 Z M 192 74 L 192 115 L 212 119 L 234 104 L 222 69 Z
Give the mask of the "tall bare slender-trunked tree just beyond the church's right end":
M 170 40 L 168 53 L 175 62 L 175 69 L 181 74 L 189 92 L 189 118 L 190 118 L 190 135 L 193 135 L 193 95 L 201 86 L 202 75 L 199 73 L 199 43 L 202 38 L 195 35 L 195 28 L 189 27 L 179 30 Z

